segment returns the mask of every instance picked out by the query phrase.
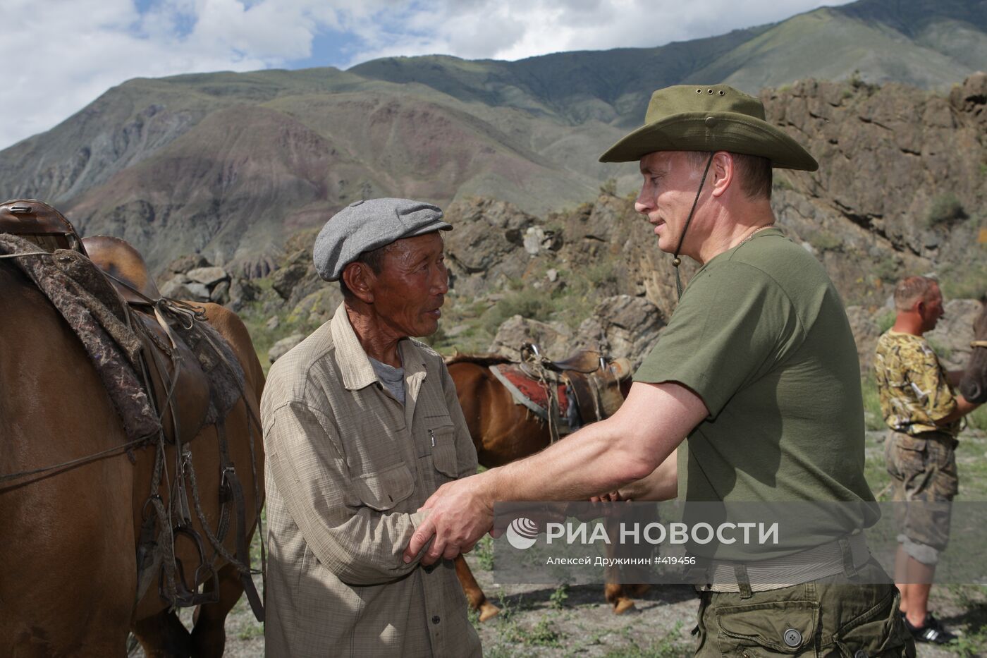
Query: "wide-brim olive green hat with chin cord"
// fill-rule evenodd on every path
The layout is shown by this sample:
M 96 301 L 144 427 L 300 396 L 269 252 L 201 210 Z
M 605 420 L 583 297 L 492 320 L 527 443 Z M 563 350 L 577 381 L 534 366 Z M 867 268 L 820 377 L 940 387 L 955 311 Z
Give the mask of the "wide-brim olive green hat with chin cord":
M 677 85 L 651 94 L 645 124 L 600 156 L 632 162 L 654 151 L 729 151 L 759 155 L 772 167 L 815 171 L 819 163 L 764 120 L 764 105 L 726 85 Z

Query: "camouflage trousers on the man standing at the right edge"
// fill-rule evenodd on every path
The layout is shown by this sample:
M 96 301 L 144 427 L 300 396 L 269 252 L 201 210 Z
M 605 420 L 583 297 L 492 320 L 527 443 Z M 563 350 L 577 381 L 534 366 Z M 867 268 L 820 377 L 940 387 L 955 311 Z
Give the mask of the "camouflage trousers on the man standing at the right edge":
M 924 564 L 939 562 L 949 544 L 950 502 L 956 496 L 956 440 L 942 432 L 912 436 L 893 430 L 884 441 L 898 541 Z

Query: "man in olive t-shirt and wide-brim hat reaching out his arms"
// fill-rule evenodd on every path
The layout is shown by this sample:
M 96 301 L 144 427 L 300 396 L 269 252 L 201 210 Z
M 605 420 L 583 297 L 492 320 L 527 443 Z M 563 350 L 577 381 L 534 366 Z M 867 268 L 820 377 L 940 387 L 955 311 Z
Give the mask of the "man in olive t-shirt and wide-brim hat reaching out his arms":
M 642 478 L 654 498 L 842 503 L 807 520 L 818 544 L 733 564 L 732 583 L 703 588 L 696 653 L 914 656 L 897 590 L 859 532 L 875 515 L 849 322 L 819 264 L 772 228 L 772 167 L 814 171 L 815 160 L 725 85 L 654 92 L 645 125 L 600 159 L 640 161 L 635 207 L 658 248 L 703 269 L 616 414 L 440 487 L 406 559 L 433 535 L 422 562 L 469 550 L 494 501 L 580 500 Z

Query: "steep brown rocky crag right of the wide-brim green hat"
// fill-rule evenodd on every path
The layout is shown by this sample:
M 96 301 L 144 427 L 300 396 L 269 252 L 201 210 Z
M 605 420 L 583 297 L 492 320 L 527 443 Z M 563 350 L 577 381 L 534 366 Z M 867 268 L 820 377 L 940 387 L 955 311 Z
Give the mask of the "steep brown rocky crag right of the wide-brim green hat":
M 899 272 L 983 259 L 985 87 L 977 73 L 946 97 L 859 80 L 762 93 L 771 121 L 819 161 L 777 173 L 779 219 L 842 289 L 856 283 L 854 297 L 873 305 Z

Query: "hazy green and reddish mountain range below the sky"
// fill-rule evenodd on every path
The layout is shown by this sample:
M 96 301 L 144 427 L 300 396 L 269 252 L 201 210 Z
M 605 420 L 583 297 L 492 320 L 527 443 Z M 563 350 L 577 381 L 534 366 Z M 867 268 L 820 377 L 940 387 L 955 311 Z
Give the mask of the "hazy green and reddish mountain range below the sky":
M 263 276 L 288 235 L 361 198 L 403 196 L 444 206 L 486 197 L 545 213 L 594 199 L 610 178 L 630 190 L 633 164 L 602 165 L 596 158 L 641 123 L 651 91 L 662 86 L 726 82 L 752 94 L 768 89 L 762 96 L 769 119 L 813 142 L 838 128 L 816 121 L 822 115 L 810 109 L 802 112 L 826 101 L 813 98 L 811 85 L 789 93 L 797 80 L 844 81 L 843 92 L 826 87 L 826 94 L 846 93 L 855 103 L 861 88 L 900 83 L 924 91 L 906 92 L 909 105 L 900 111 L 883 108 L 892 120 L 903 127 L 955 123 L 914 113 L 929 104 L 929 94 L 948 93 L 984 62 L 987 0 L 860 0 L 654 48 L 514 62 L 391 57 L 345 71 L 134 79 L 0 151 L 0 194 L 52 203 L 83 234 L 124 237 L 153 268 L 198 252 Z M 840 106 L 836 100 L 831 109 Z M 804 121 L 795 125 L 793 117 Z M 987 161 L 984 133 L 970 134 L 967 146 L 974 150 L 963 161 L 976 168 Z M 818 147 L 820 172 L 785 179 L 786 185 L 858 229 L 884 231 L 911 255 L 928 255 L 928 245 L 902 247 L 912 243 L 880 225 L 883 206 L 870 199 L 868 207 L 846 206 L 846 193 L 834 185 L 872 186 L 879 194 L 886 167 L 865 168 L 877 176 L 868 179 L 833 159 L 844 155 L 841 148 L 826 139 Z M 913 144 L 920 160 L 921 149 Z M 949 174 L 949 167 L 941 169 Z M 910 208 L 925 212 L 943 197 L 945 181 L 919 178 L 926 187 L 915 191 Z M 957 203 L 969 207 L 981 199 L 976 180 L 971 185 Z

